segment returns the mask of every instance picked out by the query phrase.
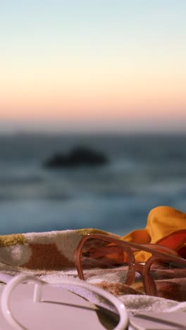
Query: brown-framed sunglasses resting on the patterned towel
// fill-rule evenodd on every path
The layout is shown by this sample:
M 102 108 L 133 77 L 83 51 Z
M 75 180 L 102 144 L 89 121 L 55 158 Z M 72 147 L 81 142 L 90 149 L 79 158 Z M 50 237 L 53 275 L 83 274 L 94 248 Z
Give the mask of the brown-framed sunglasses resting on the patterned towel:
M 147 295 L 186 300 L 186 260 L 163 245 L 139 245 L 87 234 L 73 256 L 82 280 L 124 283 Z

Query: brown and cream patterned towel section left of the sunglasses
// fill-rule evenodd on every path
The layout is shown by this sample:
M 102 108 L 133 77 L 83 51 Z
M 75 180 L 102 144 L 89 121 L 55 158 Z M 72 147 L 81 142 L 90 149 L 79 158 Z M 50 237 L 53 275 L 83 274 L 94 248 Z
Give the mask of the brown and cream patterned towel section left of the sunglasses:
M 8 279 L 20 272 L 39 277 L 49 274 L 72 274 L 77 277 L 73 251 L 87 233 L 104 233 L 119 238 L 92 228 L 0 236 L 1 279 Z M 1 282 L 6 282 L 1 279 Z

